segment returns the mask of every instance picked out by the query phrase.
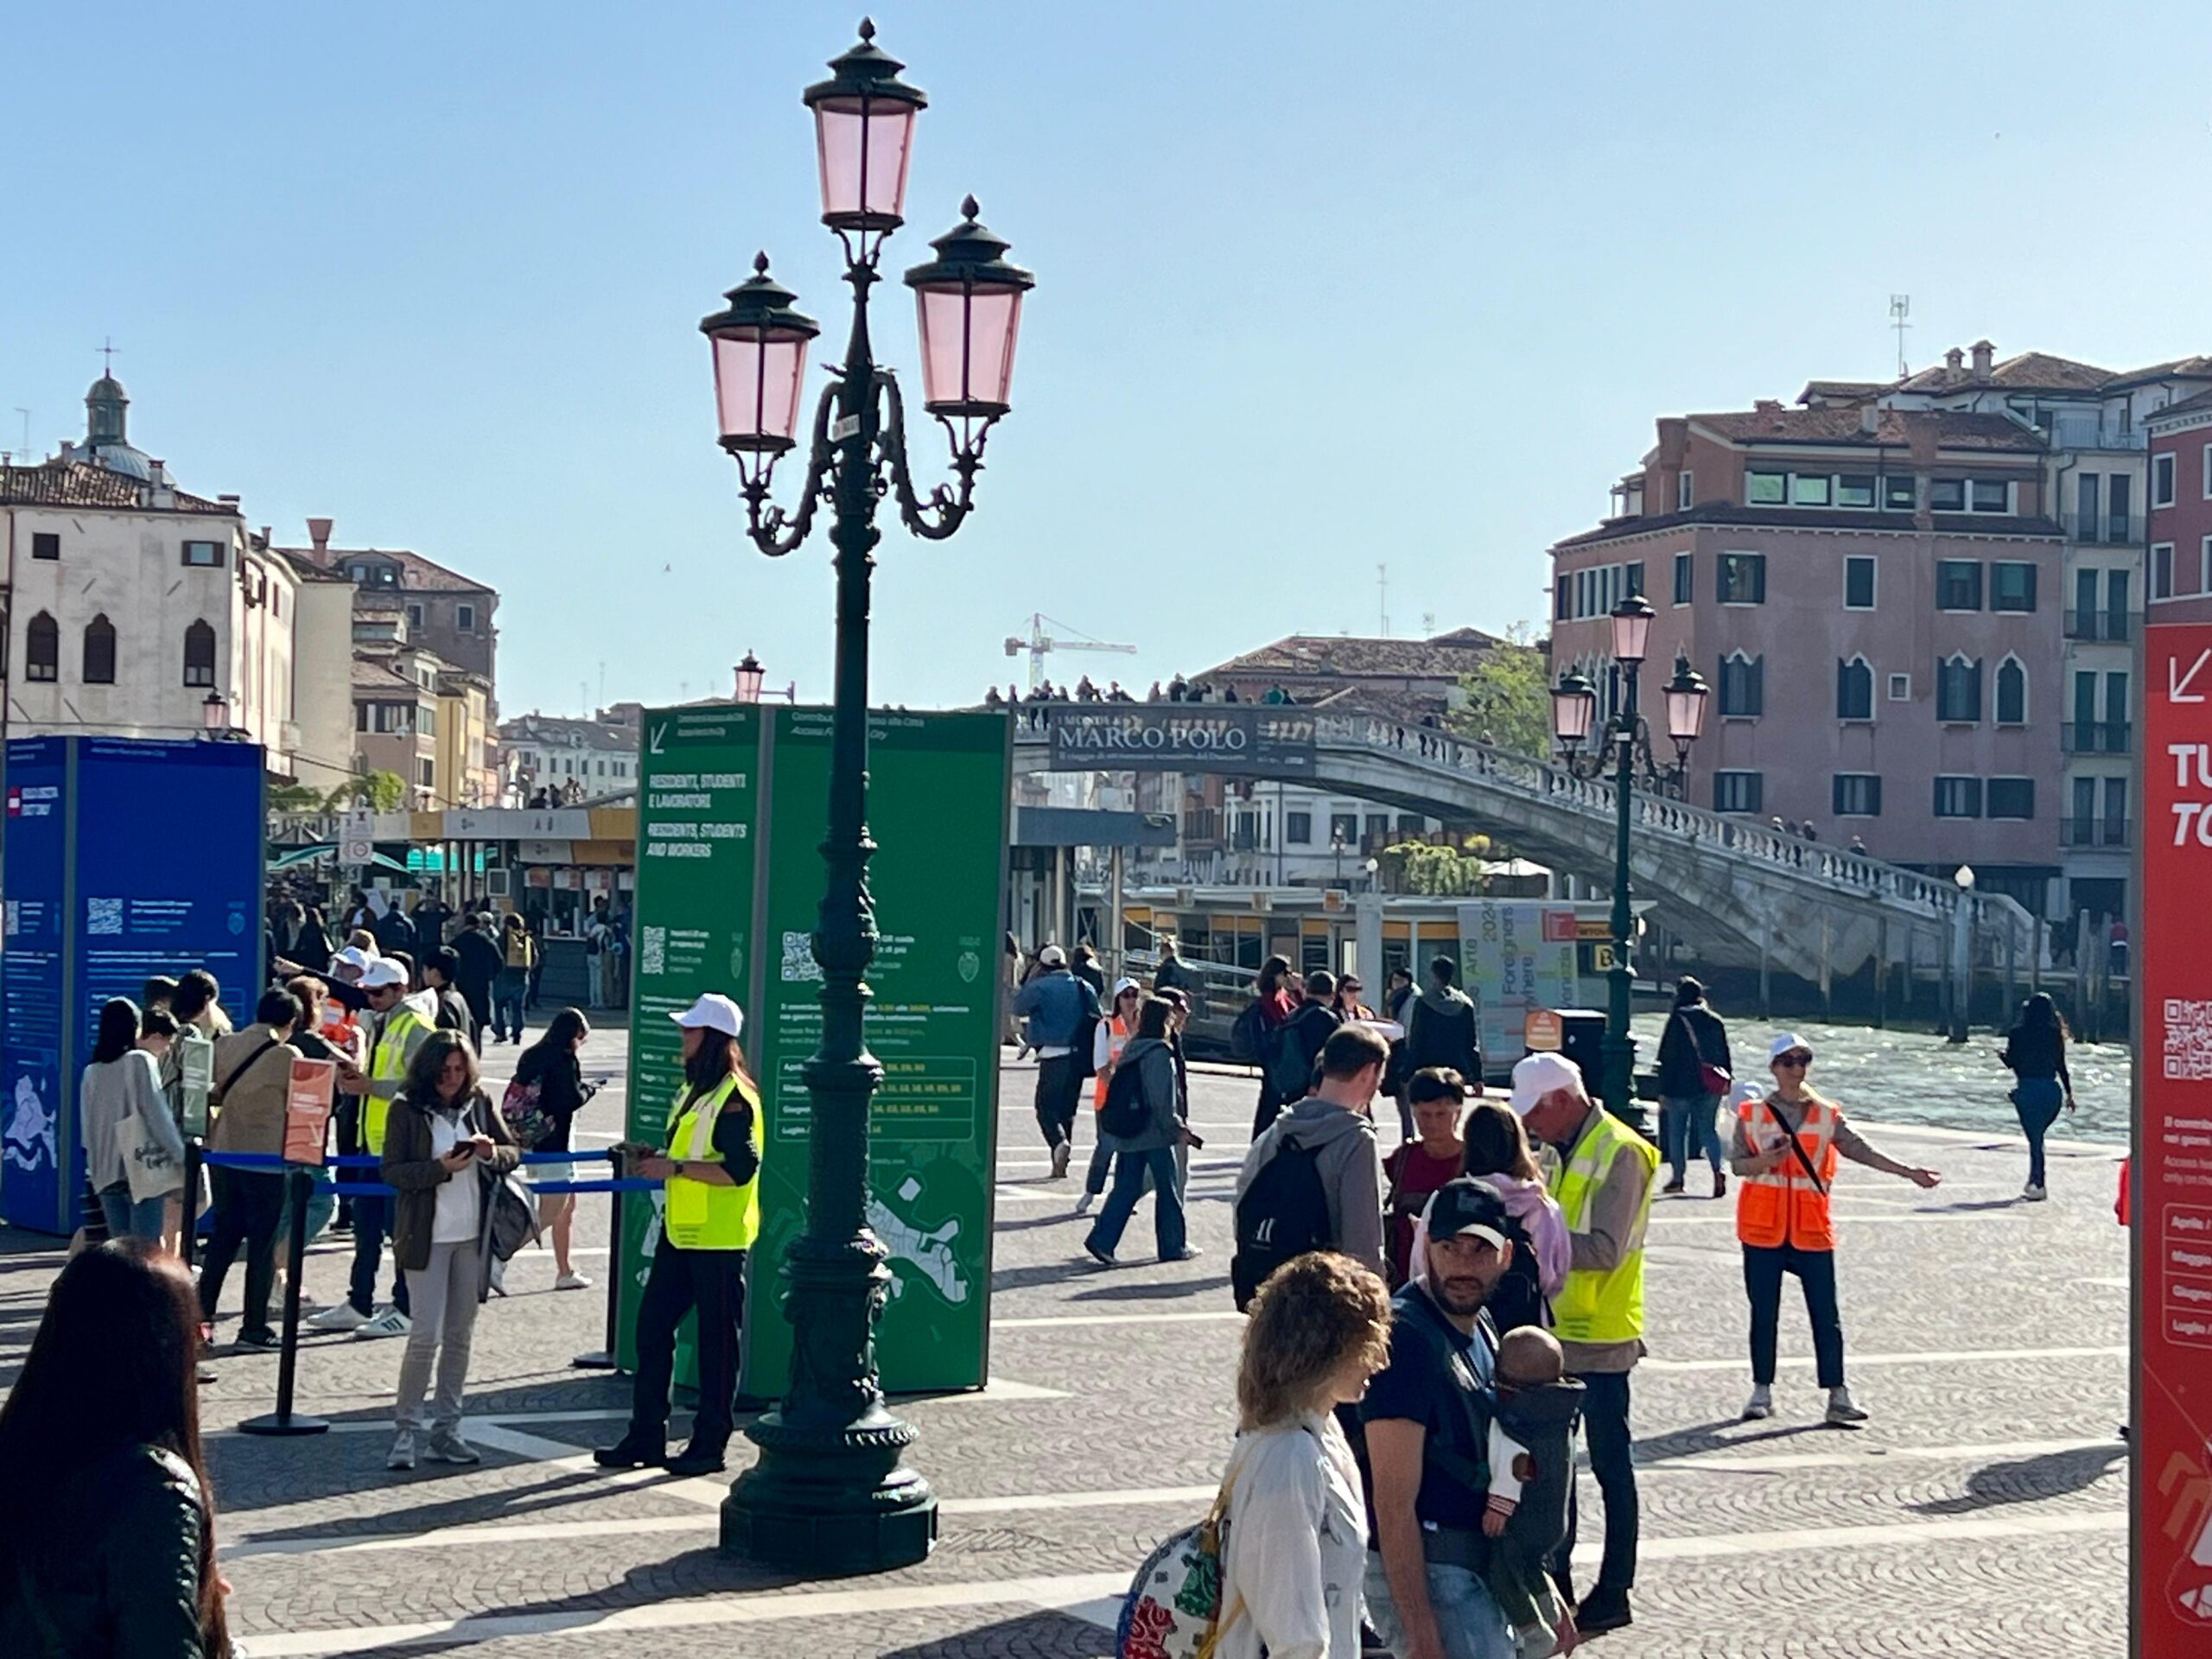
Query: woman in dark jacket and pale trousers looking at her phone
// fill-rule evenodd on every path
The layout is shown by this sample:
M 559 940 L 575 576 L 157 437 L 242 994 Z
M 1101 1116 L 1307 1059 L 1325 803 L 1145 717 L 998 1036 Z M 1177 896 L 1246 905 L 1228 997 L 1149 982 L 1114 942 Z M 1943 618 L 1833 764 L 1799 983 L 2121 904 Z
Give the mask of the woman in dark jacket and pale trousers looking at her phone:
M 507 1175 L 522 1155 L 478 1086 L 476 1051 L 458 1031 L 431 1031 L 407 1062 L 407 1082 L 385 1121 L 383 1157 L 385 1186 L 398 1194 L 392 1203 L 392 1256 L 407 1274 L 414 1307 L 400 1356 L 398 1433 L 385 1467 L 414 1469 L 431 1365 L 438 1369 L 438 1394 L 422 1455 L 431 1462 L 480 1462 L 460 1438 L 460 1394 L 469 1380 L 476 1310 L 489 1290 L 491 1206 L 484 1183 L 487 1172 Z

